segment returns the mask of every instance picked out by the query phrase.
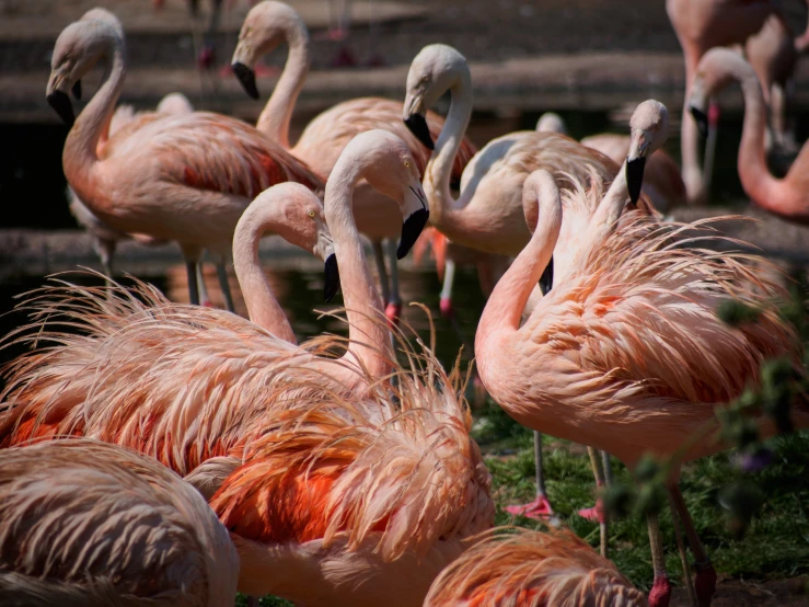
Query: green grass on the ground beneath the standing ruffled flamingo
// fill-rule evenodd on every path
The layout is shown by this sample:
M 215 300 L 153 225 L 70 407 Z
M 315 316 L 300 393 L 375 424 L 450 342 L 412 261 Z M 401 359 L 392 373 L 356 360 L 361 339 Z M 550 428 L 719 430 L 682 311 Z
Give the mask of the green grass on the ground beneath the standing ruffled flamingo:
M 540 527 L 502 511 L 506 504 L 524 503 L 534 495 L 531 433 L 511 422 L 496 406 L 478 420 L 475 438 L 486 454 L 494 477 L 497 524 Z M 685 466 L 681 488 L 697 534 L 717 573 L 733 577 L 778 579 L 809 573 L 809 434 L 777 438 L 770 446 L 775 458 L 763 471 L 744 474 L 764 495 L 764 504 L 742 538 L 736 538 L 730 516 L 718 500 L 720 489 L 742 474 L 730 454 L 718 454 Z M 598 524 L 576 511 L 594 500 L 594 482 L 583 449 L 565 440 L 545 437 L 543 463 L 548 499 L 563 525 L 598 547 Z M 613 459 L 615 479 L 632 482 L 626 468 Z M 674 583 L 682 568 L 677 553 L 668 508 L 660 516 L 667 548 L 667 565 Z M 647 588 L 652 572 L 646 523 L 639 518 L 612 522 L 610 558 L 637 586 Z

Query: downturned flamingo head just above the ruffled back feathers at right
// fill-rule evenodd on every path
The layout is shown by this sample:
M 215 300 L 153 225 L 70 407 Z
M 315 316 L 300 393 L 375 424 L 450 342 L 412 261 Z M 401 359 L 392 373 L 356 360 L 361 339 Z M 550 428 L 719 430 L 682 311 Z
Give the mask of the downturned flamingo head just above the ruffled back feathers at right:
M 637 106 L 629 118 L 629 153 L 626 157 L 626 185 L 629 201 L 637 204 L 644 182 L 646 159 L 669 138 L 669 112 L 659 101 L 649 99 Z

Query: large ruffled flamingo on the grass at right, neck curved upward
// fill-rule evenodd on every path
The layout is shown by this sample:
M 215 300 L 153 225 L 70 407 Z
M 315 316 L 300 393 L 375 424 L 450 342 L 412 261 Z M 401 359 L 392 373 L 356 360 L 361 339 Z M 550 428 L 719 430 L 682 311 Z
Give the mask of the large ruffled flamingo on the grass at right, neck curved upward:
M 692 444 L 698 428 L 718 424 L 718 406 L 758 381 L 770 357 L 794 355 L 794 329 L 768 306 L 783 289 L 750 255 L 680 248 L 678 231 L 631 214 L 617 227 L 620 198 L 608 192 L 576 264 L 554 277 L 554 288 L 520 325 L 525 301 L 555 254 L 563 207 L 546 172 L 525 182 L 527 215 L 538 206 L 530 243 L 500 278 L 484 309 L 475 341 L 478 373 L 497 403 L 529 427 L 613 454 L 634 468 L 644 454 L 687 461 L 724 448 L 716 440 Z M 601 199 L 598 182 L 565 193 Z M 616 204 L 619 203 L 619 204 Z M 592 204 L 592 203 L 590 203 Z M 685 225 L 682 230 L 698 228 Z M 762 262 L 764 263 L 764 262 Z M 758 321 L 732 328 L 716 314 L 736 299 L 762 309 Z M 809 411 L 796 414 L 809 425 Z M 756 419 L 764 436 L 771 421 Z M 669 480 L 697 561 L 696 592 L 709 604 L 716 574 L 705 556 L 678 488 Z M 649 518 L 655 584 L 651 605 L 667 605 L 657 518 Z

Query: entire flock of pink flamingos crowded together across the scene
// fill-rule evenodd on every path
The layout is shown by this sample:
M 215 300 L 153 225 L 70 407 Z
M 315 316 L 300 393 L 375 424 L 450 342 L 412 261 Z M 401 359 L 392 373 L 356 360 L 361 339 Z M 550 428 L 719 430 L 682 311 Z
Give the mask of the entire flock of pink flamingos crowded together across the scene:
M 309 33 L 275 0 L 250 11 L 232 60 L 258 99 L 256 62 L 288 46 L 255 127 L 177 95 L 155 112 L 117 105 L 120 22 L 94 9 L 67 25 L 46 99 L 70 126 L 71 209 L 94 238 L 105 285 L 57 277 L 27 295 L 30 324 L 2 342 L 27 352 L 2 371 L 0 603 L 215 607 L 239 591 L 310 607 L 668 606 L 657 514 L 647 520 L 648 596 L 606 558 L 601 499 L 583 513 L 600 522 L 600 552 L 571 531 L 494 527 L 466 378 L 397 325 L 396 262 L 429 238 L 447 253 L 442 312 L 455 262 L 478 264 L 488 297 L 475 328 L 479 380 L 534 431 L 535 500 L 507 511 L 553 515 L 541 433 L 586 445 L 599 486 L 610 482 L 610 455 L 631 470 L 645 455 L 670 459 L 666 488 L 696 561 L 692 602 L 709 606 L 716 572 L 680 466 L 729 448 L 717 412 L 761 382 L 763 364 L 781 357 L 805 374 L 806 356 L 773 308 L 786 290 L 767 262 L 705 245 L 718 220 L 674 224 L 663 213 L 707 195 L 695 134 L 715 127 L 712 100 L 728 83 L 744 98 L 738 168 L 756 205 L 809 222 L 809 161 L 804 147 L 783 179 L 766 165 L 770 147 L 789 137 L 784 96 L 796 61 L 783 44 L 766 55 L 767 41 L 784 38 L 771 3 L 667 9 L 686 59 L 682 173 L 664 152 L 669 116 L 655 100 L 637 105 L 626 136 L 579 142 L 546 115 L 535 130 L 476 149 L 465 137 L 470 67 L 444 44 L 415 55 L 404 101 L 337 104 L 292 145 Z M 752 65 L 712 48 L 746 43 Z M 776 55 L 791 61 L 787 76 L 765 69 Z M 96 66 L 102 83 L 77 117 L 70 94 Z M 444 93 L 446 119 L 430 111 Z M 779 116 L 770 131 L 768 112 Z M 298 343 L 258 257 L 267 236 L 323 262 L 323 296 L 342 290 L 347 337 Z M 117 284 L 112 260 L 124 239 L 177 242 L 190 304 Z M 205 250 L 228 310 L 200 306 Z M 249 319 L 232 312 L 231 256 Z M 718 310 L 731 300 L 759 316 L 725 323 Z M 763 414 L 751 422 L 776 434 Z M 806 402 L 791 422 L 809 427 Z M 708 438 L 693 439 L 706 428 Z

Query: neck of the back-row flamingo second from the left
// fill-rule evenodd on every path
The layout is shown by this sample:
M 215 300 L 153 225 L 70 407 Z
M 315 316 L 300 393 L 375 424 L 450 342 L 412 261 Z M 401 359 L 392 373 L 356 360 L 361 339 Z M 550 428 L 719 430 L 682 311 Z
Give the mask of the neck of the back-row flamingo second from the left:
M 309 35 L 300 24 L 291 22 L 286 25 L 284 35 L 289 45 L 287 62 L 267 105 L 258 116 L 256 129 L 289 149 L 289 124 L 309 73 Z

